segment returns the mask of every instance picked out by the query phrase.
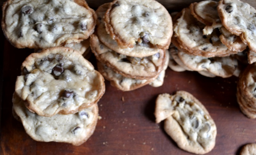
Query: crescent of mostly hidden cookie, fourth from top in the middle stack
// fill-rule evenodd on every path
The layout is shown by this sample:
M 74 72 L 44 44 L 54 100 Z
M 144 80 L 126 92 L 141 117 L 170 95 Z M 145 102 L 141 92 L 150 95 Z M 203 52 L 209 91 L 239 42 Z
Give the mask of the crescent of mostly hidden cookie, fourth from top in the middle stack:
M 154 81 L 158 77 L 158 75 L 156 75 L 155 77 L 153 77 L 151 79 L 143 79 L 143 80 L 127 78 L 121 74 L 116 73 L 115 71 L 113 71 L 112 68 L 101 63 L 100 61 L 97 61 L 97 66 L 98 66 L 99 72 L 108 81 L 110 81 L 110 84 L 113 87 L 116 87 L 117 89 L 122 90 L 122 91 L 131 91 L 131 90 L 138 89 L 138 88 L 143 87 L 143 86 L 147 85 L 148 83 Z

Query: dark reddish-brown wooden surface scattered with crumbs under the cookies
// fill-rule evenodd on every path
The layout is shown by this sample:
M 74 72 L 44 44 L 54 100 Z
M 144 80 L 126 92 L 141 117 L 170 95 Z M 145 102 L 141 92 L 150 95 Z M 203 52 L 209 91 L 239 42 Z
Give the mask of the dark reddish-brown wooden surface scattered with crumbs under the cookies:
M 88 1 L 88 4 L 97 7 L 96 2 L 98 5 L 102 4 L 102 1 Z M 180 1 L 163 2 L 167 4 Z M 188 1 L 186 2 L 184 5 L 188 4 Z M 256 6 L 254 0 L 246 2 Z M 102 119 L 98 120 L 94 134 L 84 144 L 73 146 L 68 143 L 36 142 L 12 116 L 15 80 L 20 75 L 21 63 L 33 50 L 16 49 L 4 39 L 2 32 L 0 36 L 0 66 L 3 64 L 0 91 L 1 155 L 189 155 L 191 153 L 179 149 L 164 132 L 163 122 L 155 123 L 153 114 L 157 95 L 177 90 L 188 91 L 199 99 L 216 123 L 216 145 L 209 155 L 239 154 L 244 144 L 256 142 L 256 120 L 245 117 L 236 102 L 236 77 L 208 78 L 196 72 L 174 72 L 169 68 L 164 85 L 159 88 L 144 86 L 130 92 L 122 92 L 106 81 L 106 93 L 98 103 Z M 95 64 L 93 56 L 90 61 Z

